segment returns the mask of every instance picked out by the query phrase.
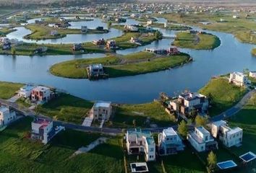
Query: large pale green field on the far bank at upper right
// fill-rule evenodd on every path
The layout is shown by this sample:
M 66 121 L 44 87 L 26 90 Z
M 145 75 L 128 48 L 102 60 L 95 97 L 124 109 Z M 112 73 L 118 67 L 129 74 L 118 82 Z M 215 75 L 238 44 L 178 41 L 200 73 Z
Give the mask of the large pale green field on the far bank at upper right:
M 155 17 L 165 17 L 168 22 L 176 22 L 187 25 L 195 25 L 207 30 L 229 32 L 235 35 L 239 41 L 244 43 L 256 43 L 256 35 L 250 31 L 256 30 L 256 23 L 245 13 L 238 14 L 239 19 L 233 18 L 234 14 L 208 13 L 198 14 L 154 14 Z M 221 19 L 224 22 L 220 22 Z M 209 25 L 202 25 L 200 22 L 210 22 Z

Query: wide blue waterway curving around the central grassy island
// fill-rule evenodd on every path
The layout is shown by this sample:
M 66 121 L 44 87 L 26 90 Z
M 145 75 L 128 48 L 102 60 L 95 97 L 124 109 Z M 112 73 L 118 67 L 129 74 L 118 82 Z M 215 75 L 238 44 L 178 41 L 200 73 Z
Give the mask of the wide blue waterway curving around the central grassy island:
M 175 32 L 162 30 L 163 34 L 174 35 Z M 90 100 L 106 100 L 121 103 L 151 102 L 160 92 L 173 95 L 184 89 L 197 91 L 211 77 L 227 74 L 231 71 L 242 71 L 244 68 L 256 70 L 256 58 L 250 50 L 255 45 L 239 43 L 231 34 L 213 32 L 221 39 L 221 46 L 214 50 L 182 49 L 189 53 L 194 62 L 179 68 L 159 71 L 137 76 L 119 77 L 99 81 L 88 79 L 64 79 L 53 76 L 48 68 L 54 63 L 75 58 L 101 57 L 103 54 L 82 56 L 0 56 L 0 80 L 22 83 L 45 84 Z M 172 39 L 165 38 L 150 45 L 119 50 L 118 53 L 135 53 L 145 48 L 168 48 Z

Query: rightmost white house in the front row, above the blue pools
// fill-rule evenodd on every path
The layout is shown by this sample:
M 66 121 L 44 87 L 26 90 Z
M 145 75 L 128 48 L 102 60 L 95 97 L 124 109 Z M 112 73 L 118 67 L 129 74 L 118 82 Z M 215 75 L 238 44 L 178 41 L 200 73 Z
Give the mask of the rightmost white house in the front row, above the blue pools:
M 211 124 L 211 133 L 214 138 L 219 138 L 227 147 L 239 146 L 242 143 L 242 128 L 230 128 L 223 120 Z

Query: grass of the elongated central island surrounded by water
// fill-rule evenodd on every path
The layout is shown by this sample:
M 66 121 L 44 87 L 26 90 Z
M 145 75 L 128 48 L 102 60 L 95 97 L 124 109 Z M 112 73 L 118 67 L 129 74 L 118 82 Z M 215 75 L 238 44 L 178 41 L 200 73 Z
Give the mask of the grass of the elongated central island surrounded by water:
M 88 75 L 85 67 L 92 63 L 102 63 L 109 77 L 119 77 L 161 71 L 167 68 L 181 66 L 189 61 L 189 55 L 185 53 L 176 56 L 161 56 L 148 61 L 149 58 L 152 58 L 151 53 L 135 53 L 121 57 L 107 56 L 106 58 L 80 59 L 57 63 L 51 66 L 50 71 L 51 74 L 56 76 L 86 79 Z M 131 60 L 132 62 L 129 63 Z M 120 61 L 125 61 L 126 63 L 120 64 Z M 82 66 L 82 68 L 77 68 L 77 66 Z

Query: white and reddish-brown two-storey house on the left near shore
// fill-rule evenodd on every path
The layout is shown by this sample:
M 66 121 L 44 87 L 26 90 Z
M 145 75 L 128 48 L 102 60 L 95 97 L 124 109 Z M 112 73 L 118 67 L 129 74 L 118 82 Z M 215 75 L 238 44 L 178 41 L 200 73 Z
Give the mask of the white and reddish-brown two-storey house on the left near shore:
M 44 103 L 54 97 L 54 92 L 46 86 L 36 86 L 32 90 L 31 99 L 33 102 Z

